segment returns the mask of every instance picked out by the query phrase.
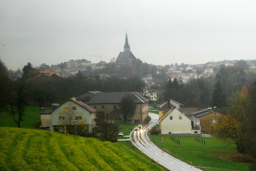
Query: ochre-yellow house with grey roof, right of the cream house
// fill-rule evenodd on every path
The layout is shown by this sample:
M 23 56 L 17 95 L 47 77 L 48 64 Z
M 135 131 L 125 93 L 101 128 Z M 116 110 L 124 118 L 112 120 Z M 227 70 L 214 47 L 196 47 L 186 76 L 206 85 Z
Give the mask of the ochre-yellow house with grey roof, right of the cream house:
M 225 116 L 225 114 L 217 111 L 216 108 L 206 108 L 197 112 L 190 113 L 188 116 L 195 116 L 200 118 L 201 132 L 211 134 L 215 126 L 220 121 L 220 118 Z

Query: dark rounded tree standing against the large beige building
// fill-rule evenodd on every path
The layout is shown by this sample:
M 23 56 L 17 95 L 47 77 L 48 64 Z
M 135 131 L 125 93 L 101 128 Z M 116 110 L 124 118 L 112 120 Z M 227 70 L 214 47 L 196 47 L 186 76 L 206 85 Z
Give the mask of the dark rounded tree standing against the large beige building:
M 126 120 L 129 117 L 133 117 L 136 110 L 136 104 L 133 100 L 133 97 L 129 94 L 126 94 L 121 100 L 120 106 L 120 112 L 122 112 L 123 118 L 124 118 L 124 124 L 126 124 Z

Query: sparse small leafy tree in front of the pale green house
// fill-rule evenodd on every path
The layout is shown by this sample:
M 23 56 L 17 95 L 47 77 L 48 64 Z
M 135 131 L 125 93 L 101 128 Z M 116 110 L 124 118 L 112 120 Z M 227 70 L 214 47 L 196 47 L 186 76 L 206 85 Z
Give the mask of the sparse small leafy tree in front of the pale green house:
M 76 105 L 73 103 L 59 112 L 59 117 L 63 119 L 59 120 L 58 129 L 64 133 L 81 135 L 88 128 L 87 122 L 82 117 L 82 112 L 78 112 L 74 108 Z

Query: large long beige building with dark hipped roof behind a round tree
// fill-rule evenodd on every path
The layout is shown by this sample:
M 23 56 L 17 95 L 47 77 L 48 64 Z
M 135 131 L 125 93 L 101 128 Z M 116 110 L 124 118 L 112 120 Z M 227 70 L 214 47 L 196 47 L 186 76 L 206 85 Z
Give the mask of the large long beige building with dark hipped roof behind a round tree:
M 149 100 L 138 92 L 99 92 L 87 102 L 89 106 L 97 111 L 115 110 L 119 108 L 122 98 L 129 95 L 136 104 L 136 111 L 132 118 L 128 118 L 135 124 L 148 122 L 148 102 Z M 120 119 L 122 117 L 120 116 Z

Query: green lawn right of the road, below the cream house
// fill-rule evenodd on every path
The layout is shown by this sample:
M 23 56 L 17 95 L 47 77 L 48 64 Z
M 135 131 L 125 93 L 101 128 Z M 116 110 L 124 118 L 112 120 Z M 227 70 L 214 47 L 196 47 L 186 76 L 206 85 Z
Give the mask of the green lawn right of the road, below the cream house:
M 150 138 L 161 149 L 188 164 L 191 164 L 192 161 L 192 165 L 195 166 L 219 168 L 201 168 L 204 171 L 221 171 L 225 169 L 238 171 L 250 170 L 249 164 L 232 162 L 228 159 L 230 155 L 236 153 L 236 146 L 232 142 L 223 143 L 212 137 L 205 137 L 200 138 L 199 143 L 194 137 L 174 137 L 180 142 L 180 145 L 178 145 L 169 136 L 164 136 L 164 143 L 161 143 L 162 136 L 150 135 Z

